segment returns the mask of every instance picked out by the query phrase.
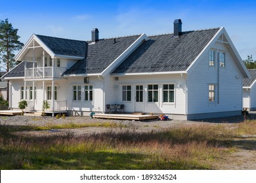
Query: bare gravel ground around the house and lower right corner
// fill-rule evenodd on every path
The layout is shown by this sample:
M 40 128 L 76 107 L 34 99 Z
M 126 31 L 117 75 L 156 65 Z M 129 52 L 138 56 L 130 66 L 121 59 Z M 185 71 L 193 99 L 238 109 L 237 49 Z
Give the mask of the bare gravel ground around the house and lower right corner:
M 256 112 L 250 112 L 250 119 L 256 119 Z M 127 127 L 82 127 L 79 129 L 51 129 L 45 131 L 22 131 L 20 135 L 32 135 L 32 136 L 47 136 L 47 135 L 65 135 L 72 133 L 75 136 L 90 135 L 95 133 L 104 132 L 120 132 L 120 131 L 137 131 L 139 133 L 160 131 L 169 127 L 181 127 L 186 125 L 219 125 L 224 127 L 232 127 L 236 123 L 244 121 L 243 116 L 234 116 L 228 118 L 211 118 L 207 120 L 195 120 L 195 121 L 182 121 L 182 120 L 144 120 L 144 121 L 131 121 L 131 120 L 103 120 L 92 119 L 90 117 L 67 117 L 66 119 L 53 119 L 47 117 L 46 119 L 37 116 L 0 116 L 1 125 L 47 125 L 47 124 L 65 124 L 65 123 L 96 123 L 96 122 L 114 122 L 117 124 L 126 125 Z M 234 142 L 236 139 L 234 140 Z M 249 143 L 249 144 L 248 144 Z M 236 142 L 237 150 L 226 156 L 221 157 L 218 162 L 213 163 L 213 169 L 254 169 L 256 170 L 256 136 L 245 137 L 242 141 L 238 139 Z M 247 146 L 249 145 L 249 149 Z

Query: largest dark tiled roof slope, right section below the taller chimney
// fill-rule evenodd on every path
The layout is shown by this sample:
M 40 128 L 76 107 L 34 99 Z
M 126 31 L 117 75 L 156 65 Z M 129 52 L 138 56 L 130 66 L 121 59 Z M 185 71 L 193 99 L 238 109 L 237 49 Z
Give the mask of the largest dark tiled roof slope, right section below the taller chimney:
M 185 71 L 217 31 L 219 28 L 187 31 L 179 38 L 173 34 L 148 37 L 112 73 Z

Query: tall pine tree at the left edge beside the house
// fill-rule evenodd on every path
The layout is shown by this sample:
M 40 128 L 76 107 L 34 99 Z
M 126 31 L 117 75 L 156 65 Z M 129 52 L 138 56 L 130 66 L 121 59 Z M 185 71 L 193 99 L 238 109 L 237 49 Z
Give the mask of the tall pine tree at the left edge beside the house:
M 24 44 L 18 39 L 18 29 L 14 29 L 8 19 L 0 20 L 0 64 L 9 72 L 16 65 L 14 52 Z M 9 99 L 9 83 L 7 83 L 7 100 Z

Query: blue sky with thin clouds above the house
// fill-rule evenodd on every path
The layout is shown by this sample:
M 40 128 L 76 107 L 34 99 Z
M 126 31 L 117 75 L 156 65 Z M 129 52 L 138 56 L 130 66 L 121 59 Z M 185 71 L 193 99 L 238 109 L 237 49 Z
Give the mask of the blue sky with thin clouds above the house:
M 91 29 L 100 38 L 146 33 L 173 33 L 173 21 L 182 31 L 224 26 L 242 59 L 256 59 L 256 1 L 12 1 L 0 0 L 0 20 L 9 19 L 26 43 L 33 33 L 90 40 Z

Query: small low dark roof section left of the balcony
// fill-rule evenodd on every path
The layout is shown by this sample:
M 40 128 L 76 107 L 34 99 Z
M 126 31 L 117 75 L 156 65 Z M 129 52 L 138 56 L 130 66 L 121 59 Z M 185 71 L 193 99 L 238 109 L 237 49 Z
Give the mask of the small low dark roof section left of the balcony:
M 24 77 L 25 72 L 24 72 L 24 64 L 25 62 L 22 61 L 19 65 L 14 67 L 7 75 L 5 75 L 5 78 L 13 78 L 13 77 Z M 37 66 L 37 63 L 35 62 L 35 67 Z M 33 62 L 26 62 L 26 67 L 27 68 L 32 68 L 33 67 Z

